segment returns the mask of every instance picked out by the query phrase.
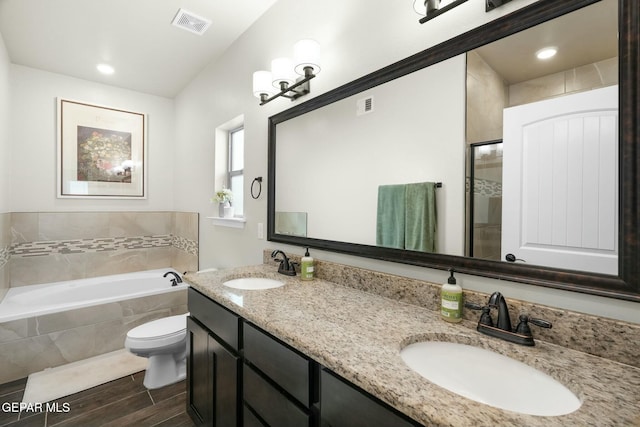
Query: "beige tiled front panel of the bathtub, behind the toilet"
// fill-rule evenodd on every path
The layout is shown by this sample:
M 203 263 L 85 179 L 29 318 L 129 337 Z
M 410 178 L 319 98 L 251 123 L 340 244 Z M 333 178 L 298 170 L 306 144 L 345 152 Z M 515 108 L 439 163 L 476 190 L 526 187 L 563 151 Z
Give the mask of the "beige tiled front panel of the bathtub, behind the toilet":
M 122 349 L 130 329 L 186 312 L 184 289 L 0 323 L 0 384 Z

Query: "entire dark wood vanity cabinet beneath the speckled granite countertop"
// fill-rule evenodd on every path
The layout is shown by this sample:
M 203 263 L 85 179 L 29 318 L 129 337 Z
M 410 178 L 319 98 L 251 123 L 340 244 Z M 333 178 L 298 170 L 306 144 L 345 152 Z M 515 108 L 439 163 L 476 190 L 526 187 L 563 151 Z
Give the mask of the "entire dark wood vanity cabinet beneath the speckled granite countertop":
M 415 427 L 296 349 L 189 289 L 187 412 L 214 427 Z

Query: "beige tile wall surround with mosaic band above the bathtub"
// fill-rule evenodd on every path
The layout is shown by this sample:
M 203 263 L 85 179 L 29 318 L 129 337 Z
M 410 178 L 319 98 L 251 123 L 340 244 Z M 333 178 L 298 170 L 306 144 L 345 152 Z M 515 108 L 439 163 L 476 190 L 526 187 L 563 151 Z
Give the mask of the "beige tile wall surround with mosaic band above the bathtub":
M 10 286 L 172 266 L 198 269 L 198 214 L 13 212 Z

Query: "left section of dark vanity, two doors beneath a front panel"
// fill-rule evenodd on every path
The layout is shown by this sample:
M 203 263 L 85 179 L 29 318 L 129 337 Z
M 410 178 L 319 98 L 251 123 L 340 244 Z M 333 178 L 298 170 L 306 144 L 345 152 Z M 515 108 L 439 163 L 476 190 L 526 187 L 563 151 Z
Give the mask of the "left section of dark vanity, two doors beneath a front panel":
M 199 426 L 240 427 L 240 318 L 195 290 L 188 295 L 187 412 Z

